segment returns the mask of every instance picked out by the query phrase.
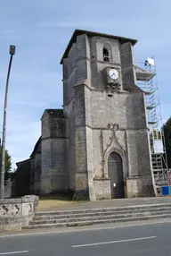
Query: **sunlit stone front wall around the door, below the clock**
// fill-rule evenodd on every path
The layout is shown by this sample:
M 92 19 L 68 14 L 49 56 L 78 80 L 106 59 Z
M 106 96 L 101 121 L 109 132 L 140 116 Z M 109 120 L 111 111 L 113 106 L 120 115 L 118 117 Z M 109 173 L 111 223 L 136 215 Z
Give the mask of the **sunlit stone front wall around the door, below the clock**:
M 125 170 L 128 169 L 125 175 L 141 175 L 144 195 L 152 194 L 151 158 L 142 92 L 119 93 L 112 98 L 100 91 L 92 91 L 91 95 L 92 127 L 96 128 L 93 135 L 95 175 L 101 176 L 103 171 L 101 130 L 106 130 L 108 124 L 118 124 L 118 130 L 126 132 L 126 137 L 123 137 L 126 146 L 123 148 L 121 141 L 115 146 L 126 152 L 129 165 L 128 168 L 125 166 Z M 111 134 L 109 143 L 110 138 Z

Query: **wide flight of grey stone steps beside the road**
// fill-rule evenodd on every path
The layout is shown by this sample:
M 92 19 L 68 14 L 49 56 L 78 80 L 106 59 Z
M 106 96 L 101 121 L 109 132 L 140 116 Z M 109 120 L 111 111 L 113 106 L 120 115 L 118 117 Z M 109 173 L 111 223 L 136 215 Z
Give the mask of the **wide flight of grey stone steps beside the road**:
M 23 226 L 22 229 L 88 226 L 155 218 L 171 218 L 171 204 L 37 212 L 29 226 Z

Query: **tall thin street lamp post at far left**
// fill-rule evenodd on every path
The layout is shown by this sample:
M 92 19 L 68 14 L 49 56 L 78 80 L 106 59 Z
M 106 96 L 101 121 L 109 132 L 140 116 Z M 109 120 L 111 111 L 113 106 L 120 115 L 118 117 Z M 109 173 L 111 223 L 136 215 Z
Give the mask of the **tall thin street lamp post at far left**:
M 6 110 L 7 110 L 7 97 L 8 97 L 8 86 L 10 79 L 10 72 L 12 66 L 12 56 L 15 54 L 15 46 L 10 46 L 10 63 L 8 66 L 8 73 L 6 78 L 6 87 L 4 95 L 4 122 L 3 122 L 3 140 L 2 140 L 2 163 L 1 163 L 1 188 L 0 188 L 0 199 L 4 199 L 4 165 L 5 165 L 5 137 L 6 137 Z

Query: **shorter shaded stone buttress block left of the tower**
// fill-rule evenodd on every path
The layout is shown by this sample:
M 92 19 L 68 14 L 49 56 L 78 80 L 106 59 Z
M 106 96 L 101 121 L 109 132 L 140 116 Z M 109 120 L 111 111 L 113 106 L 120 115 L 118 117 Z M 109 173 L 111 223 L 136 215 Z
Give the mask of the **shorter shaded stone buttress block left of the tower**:
M 69 189 L 66 168 L 66 124 L 61 109 L 45 110 L 42 117 L 41 193 Z

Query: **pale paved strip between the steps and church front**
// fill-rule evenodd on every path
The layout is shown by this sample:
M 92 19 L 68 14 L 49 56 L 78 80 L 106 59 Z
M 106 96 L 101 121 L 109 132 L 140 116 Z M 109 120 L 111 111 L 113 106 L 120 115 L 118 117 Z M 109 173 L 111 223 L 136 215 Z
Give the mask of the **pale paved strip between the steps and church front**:
M 53 209 L 52 211 L 61 209 L 100 209 L 100 208 L 115 208 L 126 206 L 150 205 L 150 204 L 165 204 L 171 203 L 171 197 L 149 197 L 149 198 L 130 198 L 130 199 L 115 199 L 104 201 L 86 201 L 70 204 L 66 207 Z M 38 211 L 38 210 L 37 210 Z M 48 211 L 48 210 L 45 210 Z

